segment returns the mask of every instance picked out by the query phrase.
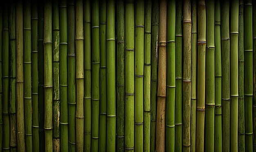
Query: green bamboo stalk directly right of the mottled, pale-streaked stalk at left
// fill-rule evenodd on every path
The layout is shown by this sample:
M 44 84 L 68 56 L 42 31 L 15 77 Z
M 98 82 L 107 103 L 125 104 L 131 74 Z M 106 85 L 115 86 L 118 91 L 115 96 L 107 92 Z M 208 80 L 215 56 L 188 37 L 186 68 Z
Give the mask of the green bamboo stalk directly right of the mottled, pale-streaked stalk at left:
M 67 99 L 67 1 L 60 7 L 60 102 L 61 151 L 68 151 L 68 99 Z

